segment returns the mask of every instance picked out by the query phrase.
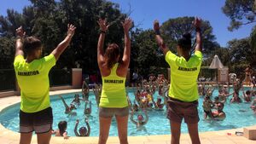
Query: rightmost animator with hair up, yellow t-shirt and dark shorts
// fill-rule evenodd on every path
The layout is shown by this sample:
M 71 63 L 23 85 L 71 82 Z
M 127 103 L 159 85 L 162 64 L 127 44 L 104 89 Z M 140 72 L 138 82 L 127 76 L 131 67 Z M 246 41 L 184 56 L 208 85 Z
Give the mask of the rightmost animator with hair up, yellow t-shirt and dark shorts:
M 167 118 L 170 119 L 171 124 L 172 144 L 179 143 L 183 118 L 188 125 L 192 144 L 201 143 L 198 134 L 199 117 L 197 107 L 199 95 L 196 82 L 202 61 L 201 19 L 196 17 L 193 23 L 196 31 L 195 54 L 190 54 L 191 35 L 185 33 L 182 38 L 178 39 L 177 56 L 167 48 L 166 43 L 160 36 L 159 21 L 154 21 L 156 42 L 164 53 L 166 62 L 171 67 Z

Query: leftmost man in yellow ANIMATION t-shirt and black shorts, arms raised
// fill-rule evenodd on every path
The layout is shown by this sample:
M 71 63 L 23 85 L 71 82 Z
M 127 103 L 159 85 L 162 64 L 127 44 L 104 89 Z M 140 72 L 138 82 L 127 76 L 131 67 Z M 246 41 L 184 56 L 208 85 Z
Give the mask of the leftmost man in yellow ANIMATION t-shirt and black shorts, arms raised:
M 25 37 L 20 26 L 16 29 L 15 75 L 20 86 L 20 144 L 31 143 L 32 132 L 38 143 L 48 144 L 53 115 L 49 102 L 49 70 L 72 40 L 76 27 L 67 25 L 67 37 L 50 55 L 42 56 L 43 44 L 37 37 Z M 24 54 L 26 57 L 24 57 Z

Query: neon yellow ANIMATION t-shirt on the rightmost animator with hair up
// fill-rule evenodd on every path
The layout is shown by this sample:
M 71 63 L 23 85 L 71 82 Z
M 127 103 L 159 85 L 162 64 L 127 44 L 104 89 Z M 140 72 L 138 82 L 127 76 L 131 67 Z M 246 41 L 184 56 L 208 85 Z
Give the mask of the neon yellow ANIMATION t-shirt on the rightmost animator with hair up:
M 197 77 L 201 69 L 201 51 L 195 51 L 187 61 L 183 57 L 166 53 L 166 62 L 171 67 L 169 96 L 180 101 L 196 101 L 199 98 Z

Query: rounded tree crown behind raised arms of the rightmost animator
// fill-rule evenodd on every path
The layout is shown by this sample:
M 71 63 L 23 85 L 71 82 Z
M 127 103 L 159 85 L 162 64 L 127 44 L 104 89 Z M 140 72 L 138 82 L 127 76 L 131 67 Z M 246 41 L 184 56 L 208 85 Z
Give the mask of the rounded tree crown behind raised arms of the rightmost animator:
M 166 20 L 161 26 L 161 32 L 169 46 L 169 49 L 176 52 L 177 41 L 183 37 L 184 33 L 191 33 L 193 46 L 195 46 L 195 27 L 192 25 L 194 17 L 178 17 Z M 219 47 L 215 41 L 216 37 L 212 34 L 212 26 L 207 20 L 203 20 L 201 24 L 201 32 L 203 38 L 203 53 L 209 55 L 213 50 Z

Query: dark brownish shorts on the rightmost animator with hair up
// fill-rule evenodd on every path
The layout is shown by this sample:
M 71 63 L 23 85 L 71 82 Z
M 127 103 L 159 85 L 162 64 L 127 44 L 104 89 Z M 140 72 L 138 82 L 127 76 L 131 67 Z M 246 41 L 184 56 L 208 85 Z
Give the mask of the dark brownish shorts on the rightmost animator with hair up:
M 171 121 L 181 124 L 184 118 L 184 122 L 187 124 L 196 124 L 199 122 L 198 101 L 185 102 L 169 97 L 167 102 L 167 118 Z

